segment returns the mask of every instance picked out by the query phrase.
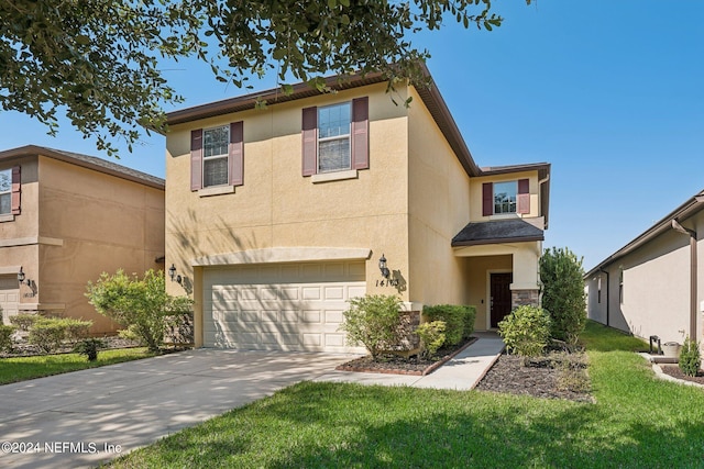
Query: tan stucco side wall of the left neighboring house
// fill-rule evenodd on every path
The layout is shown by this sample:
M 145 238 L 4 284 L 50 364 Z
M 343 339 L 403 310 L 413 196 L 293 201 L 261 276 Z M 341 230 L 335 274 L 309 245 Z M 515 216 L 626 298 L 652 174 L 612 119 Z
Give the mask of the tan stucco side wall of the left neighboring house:
M 38 246 L 31 301 L 94 321 L 94 333 L 117 331 L 88 303 L 86 284 L 102 271 L 163 268 L 164 191 L 43 156 L 38 179 L 38 235 L 48 242 Z

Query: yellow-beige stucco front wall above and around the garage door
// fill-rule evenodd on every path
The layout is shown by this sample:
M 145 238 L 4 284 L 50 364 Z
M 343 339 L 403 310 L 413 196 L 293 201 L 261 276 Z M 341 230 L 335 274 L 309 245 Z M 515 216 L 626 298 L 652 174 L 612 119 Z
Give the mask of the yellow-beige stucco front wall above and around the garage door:
M 175 264 L 186 288 L 199 284 L 194 259 L 277 247 L 369 248 L 367 292 L 376 287 L 382 254 L 388 268 L 408 277 L 408 174 L 406 109 L 395 105 L 383 83 L 322 94 L 264 110 L 174 125 L 166 138 L 166 263 Z M 400 98 L 404 99 L 403 90 Z M 355 179 L 312 183 L 301 176 L 301 109 L 370 97 L 370 169 Z M 190 131 L 244 122 L 244 185 L 234 193 L 201 197 L 190 191 Z M 257 259 L 252 259 L 256 263 Z M 260 260 L 261 261 L 261 260 Z M 196 293 L 196 313 L 199 313 Z

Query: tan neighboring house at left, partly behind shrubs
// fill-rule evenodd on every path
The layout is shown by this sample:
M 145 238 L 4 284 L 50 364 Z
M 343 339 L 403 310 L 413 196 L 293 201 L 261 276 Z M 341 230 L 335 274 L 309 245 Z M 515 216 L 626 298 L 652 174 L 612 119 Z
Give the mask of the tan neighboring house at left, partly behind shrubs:
M 89 280 L 163 268 L 164 180 L 38 146 L 0 152 L 0 308 L 117 325 L 85 297 Z M 161 261 L 155 261 L 161 257 Z M 22 282 L 19 281 L 23 278 Z

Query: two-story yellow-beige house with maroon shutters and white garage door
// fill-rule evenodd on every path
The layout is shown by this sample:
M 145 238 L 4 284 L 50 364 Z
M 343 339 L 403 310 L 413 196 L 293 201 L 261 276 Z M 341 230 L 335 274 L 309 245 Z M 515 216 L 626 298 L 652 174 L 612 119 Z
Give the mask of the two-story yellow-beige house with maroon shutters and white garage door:
M 168 114 L 168 291 L 194 294 L 196 345 L 350 350 L 364 293 L 473 304 L 477 330 L 537 304 L 550 165 L 480 168 L 435 87 L 398 83 L 406 108 L 378 75 L 327 83 Z

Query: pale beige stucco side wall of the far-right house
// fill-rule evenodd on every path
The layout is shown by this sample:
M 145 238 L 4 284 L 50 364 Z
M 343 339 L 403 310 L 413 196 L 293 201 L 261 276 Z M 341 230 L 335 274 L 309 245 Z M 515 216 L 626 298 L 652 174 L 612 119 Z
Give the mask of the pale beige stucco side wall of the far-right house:
M 682 221 L 698 233 L 697 242 L 697 336 L 703 338 L 704 300 L 704 211 Z M 682 343 L 690 328 L 690 244 L 689 236 L 668 230 L 635 252 L 604 268 L 609 272 L 608 324 L 648 338 Z M 624 275 L 623 302 L 619 301 L 619 272 Z M 602 302 L 597 282 L 602 277 Z M 606 324 L 606 275 L 586 279 L 588 317 Z M 684 334 L 682 333 L 684 332 Z

